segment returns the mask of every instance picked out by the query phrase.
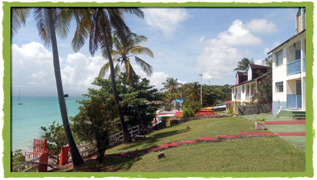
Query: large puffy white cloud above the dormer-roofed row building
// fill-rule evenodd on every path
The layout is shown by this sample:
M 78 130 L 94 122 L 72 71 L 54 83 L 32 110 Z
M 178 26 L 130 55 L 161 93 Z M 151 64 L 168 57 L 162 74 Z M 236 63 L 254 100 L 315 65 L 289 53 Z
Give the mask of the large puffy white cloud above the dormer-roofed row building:
M 250 53 L 237 47 L 254 46 L 261 43 L 261 38 L 245 28 L 241 20 L 235 20 L 228 30 L 218 34 L 217 39 L 208 40 L 203 52 L 197 57 L 197 67 L 203 72 L 203 79 L 219 80 L 232 76 L 237 62 Z

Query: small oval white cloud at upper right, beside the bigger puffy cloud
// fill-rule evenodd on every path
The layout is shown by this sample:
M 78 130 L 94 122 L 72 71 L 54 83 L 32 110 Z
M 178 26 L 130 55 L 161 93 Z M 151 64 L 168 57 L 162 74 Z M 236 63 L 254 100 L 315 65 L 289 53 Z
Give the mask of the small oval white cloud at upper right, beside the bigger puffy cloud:
M 245 27 L 256 33 L 274 33 L 277 31 L 276 24 L 266 19 L 252 19 Z

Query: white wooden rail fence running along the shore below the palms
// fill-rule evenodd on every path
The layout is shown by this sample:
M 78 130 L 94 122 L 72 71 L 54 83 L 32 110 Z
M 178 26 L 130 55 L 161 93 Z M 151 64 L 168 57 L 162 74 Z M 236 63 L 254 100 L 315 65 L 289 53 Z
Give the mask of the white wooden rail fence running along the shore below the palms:
M 129 134 L 131 137 L 134 137 L 136 135 L 138 135 L 140 133 L 140 127 L 139 125 L 138 126 L 134 126 L 132 128 L 129 128 L 128 129 Z M 113 145 L 113 144 L 116 144 L 118 142 L 122 142 L 123 141 L 123 133 L 122 131 L 121 132 L 118 132 L 118 133 L 115 133 L 111 136 L 109 136 L 110 138 L 110 145 Z M 79 150 L 79 153 L 81 154 L 82 158 L 87 158 L 89 157 L 90 155 L 92 155 L 93 153 L 96 152 L 96 146 L 94 144 L 85 144 L 85 145 L 80 145 L 80 146 L 77 146 L 78 150 Z M 34 159 L 30 159 L 28 160 L 28 162 L 39 162 L 40 160 L 40 156 L 38 156 L 37 158 L 34 158 Z M 12 169 L 12 172 L 13 171 L 22 171 L 22 172 L 29 172 L 29 171 L 32 171 L 33 169 L 37 168 L 38 165 L 35 165 L 35 166 L 31 166 L 30 163 L 23 163 L 23 164 L 20 164 L 16 167 L 14 167 Z M 72 159 L 71 159 L 71 153 L 68 152 L 68 163 L 71 163 L 73 162 Z M 31 167 L 28 167 L 31 166 Z M 23 170 L 25 168 L 28 168 L 26 170 Z

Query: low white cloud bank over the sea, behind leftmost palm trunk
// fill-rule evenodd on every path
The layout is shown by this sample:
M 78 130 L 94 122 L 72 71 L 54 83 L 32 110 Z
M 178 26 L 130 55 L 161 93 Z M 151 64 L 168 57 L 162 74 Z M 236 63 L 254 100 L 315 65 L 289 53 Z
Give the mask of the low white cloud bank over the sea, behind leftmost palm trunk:
M 41 92 L 42 86 L 49 86 L 56 93 L 53 88 L 56 87 L 56 82 L 51 52 L 37 42 L 22 47 L 13 44 L 11 52 L 12 86 L 24 86 L 29 91 L 37 92 Z M 87 92 L 88 87 L 94 87 L 91 83 L 104 63 L 102 57 L 85 57 L 81 53 L 68 54 L 67 59 L 60 58 L 63 88 Z

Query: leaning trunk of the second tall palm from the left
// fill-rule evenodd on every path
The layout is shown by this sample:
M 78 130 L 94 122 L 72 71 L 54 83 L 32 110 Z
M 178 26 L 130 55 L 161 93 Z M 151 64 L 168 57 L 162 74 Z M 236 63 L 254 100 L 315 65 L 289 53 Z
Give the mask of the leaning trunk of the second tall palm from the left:
M 112 91 L 113 91 L 113 97 L 114 97 L 114 102 L 116 103 L 116 105 L 119 104 L 119 98 L 118 98 L 118 93 L 117 93 L 117 87 L 116 87 L 116 82 L 114 79 L 114 67 L 113 67 L 113 61 L 112 61 L 112 57 L 110 54 L 110 48 L 107 44 L 107 38 L 106 35 L 103 35 L 103 39 L 105 42 L 105 46 L 106 46 L 106 51 L 107 51 L 107 55 L 108 55 L 108 60 L 109 60 L 109 68 L 110 68 L 110 77 L 111 77 L 111 85 L 112 85 Z M 123 132 L 123 144 L 129 144 L 132 143 L 132 138 L 128 132 L 128 128 L 126 127 L 126 123 L 124 121 L 124 117 L 123 117 L 123 113 L 122 113 L 122 109 L 121 106 L 118 106 L 118 114 L 119 114 L 119 119 L 120 119 L 120 123 L 121 123 L 121 127 L 122 127 L 122 132 Z

